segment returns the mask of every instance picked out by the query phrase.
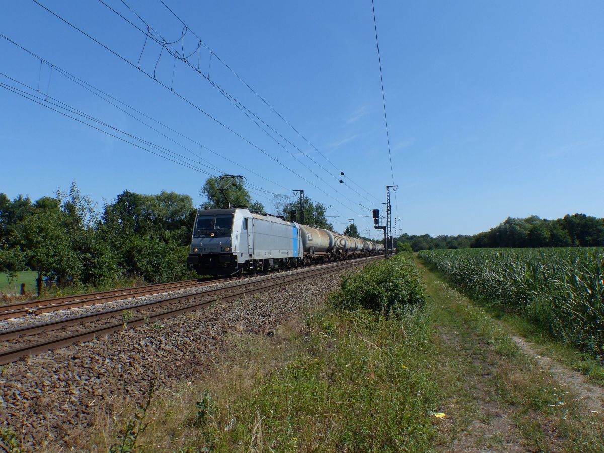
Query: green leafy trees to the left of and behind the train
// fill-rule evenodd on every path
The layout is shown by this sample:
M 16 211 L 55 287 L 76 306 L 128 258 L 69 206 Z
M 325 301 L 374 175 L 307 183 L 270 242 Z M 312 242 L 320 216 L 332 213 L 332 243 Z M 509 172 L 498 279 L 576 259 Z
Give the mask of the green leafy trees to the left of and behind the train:
M 208 178 L 201 195 L 202 209 L 231 205 L 266 213 L 242 178 Z M 291 208 L 282 205 L 282 211 Z M 322 204 L 306 199 L 304 208 L 309 223 L 331 227 Z M 188 195 L 129 190 L 99 210 L 76 182 L 37 201 L 0 193 L 0 272 L 36 271 L 38 293 L 44 280 L 104 288 L 132 277 L 148 283 L 194 278 L 186 263 L 196 211 Z

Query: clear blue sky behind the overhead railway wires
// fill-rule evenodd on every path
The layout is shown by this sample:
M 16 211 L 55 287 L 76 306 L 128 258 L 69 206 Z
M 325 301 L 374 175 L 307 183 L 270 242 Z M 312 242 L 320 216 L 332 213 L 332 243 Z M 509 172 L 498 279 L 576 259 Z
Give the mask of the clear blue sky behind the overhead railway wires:
M 138 64 L 146 35 L 100 1 L 39 1 Z M 146 30 L 121 1 L 104 1 Z M 155 75 L 264 153 L 31 0 L 3 2 L 0 33 L 182 135 L 155 125 L 169 138 L 159 135 L 4 39 L 0 72 L 39 89 L 42 103 L 48 88 L 50 100 L 187 156 L 189 165 L 211 173 L 218 170 L 199 164 L 196 143 L 214 150 L 201 149 L 202 158 L 246 176 L 269 211 L 272 193 L 301 188 L 332 205 L 336 230 L 348 219 L 361 229 L 370 226 L 371 219 L 361 217 L 370 211 L 359 204 L 383 210 L 379 203 L 391 184 L 371 2 L 164 1 L 345 172 L 344 185 L 322 155 L 215 57 L 210 80 L 284 138 L 272 130 L 269 137 L 204 76 L 182 62 L 174 66 L 165 51 Z M 166 40 L 181 37 L 181 24 L 159 0 L 127 4 Z M 604 217 L 604 3 L 376 0 L 376 14 L 399 185 L 393 212 L 402 231 L 472 234 L 530 214 Z M 191 53 L 196 40 L 187 33 L 183 45 Z M 153 74 L 159 50 L 147 43 L 141 69 Z M 209 60 L 202 47 L 205 75 Z M 190 62 L 197 65 L 197 54 Z M 16 86 L 4 76 L 0 82 Z M 11 197 L 36 199 L 75 179 L 100 206 L 126 189 L 186 193 L 199 205 L 207 177 L 4 88 L 0 153 L 0 191 Z

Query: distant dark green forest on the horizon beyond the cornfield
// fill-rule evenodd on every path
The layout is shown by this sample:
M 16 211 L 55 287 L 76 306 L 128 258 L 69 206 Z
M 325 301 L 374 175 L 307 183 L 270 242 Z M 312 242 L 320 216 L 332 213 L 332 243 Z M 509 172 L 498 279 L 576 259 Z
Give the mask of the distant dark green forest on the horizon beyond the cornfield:
M 585 214 L 567 214 L 556 220 L 508 217 L 495 228 L 474 235 L 432 237 L 405 233 L 394 242 L 399 248 L 411 247 L 415 252 L 437 248 L 604 246 L 604 219 Z

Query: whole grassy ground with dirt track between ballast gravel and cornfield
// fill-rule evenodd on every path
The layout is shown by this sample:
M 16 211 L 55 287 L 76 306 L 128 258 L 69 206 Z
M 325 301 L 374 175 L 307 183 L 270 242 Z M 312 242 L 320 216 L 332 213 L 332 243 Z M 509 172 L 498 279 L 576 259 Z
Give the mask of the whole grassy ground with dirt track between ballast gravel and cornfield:
M 410 303 L 426 298 L 402 260 L 402 274 L 370 266 L 345 278 L 274 336 L 233 334 L 216 371 L 158 393 L 144 420 L 124 411 L 122 437 L 109 429 L 95 446 L 130 436 L 141 451 L 602 450 L 602 414 L 422 265 L 429 301 Z

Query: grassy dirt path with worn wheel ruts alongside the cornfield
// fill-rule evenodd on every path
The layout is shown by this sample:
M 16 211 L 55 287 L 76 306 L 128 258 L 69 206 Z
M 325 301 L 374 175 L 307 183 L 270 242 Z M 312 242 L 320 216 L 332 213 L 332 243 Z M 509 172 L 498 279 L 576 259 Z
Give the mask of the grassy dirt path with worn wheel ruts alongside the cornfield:
M 442 367 L 440 451 L 603 451 L 603 389 L 503 330 L 418 262 Z M 597 412 L 592 412 L 597 411 Z

